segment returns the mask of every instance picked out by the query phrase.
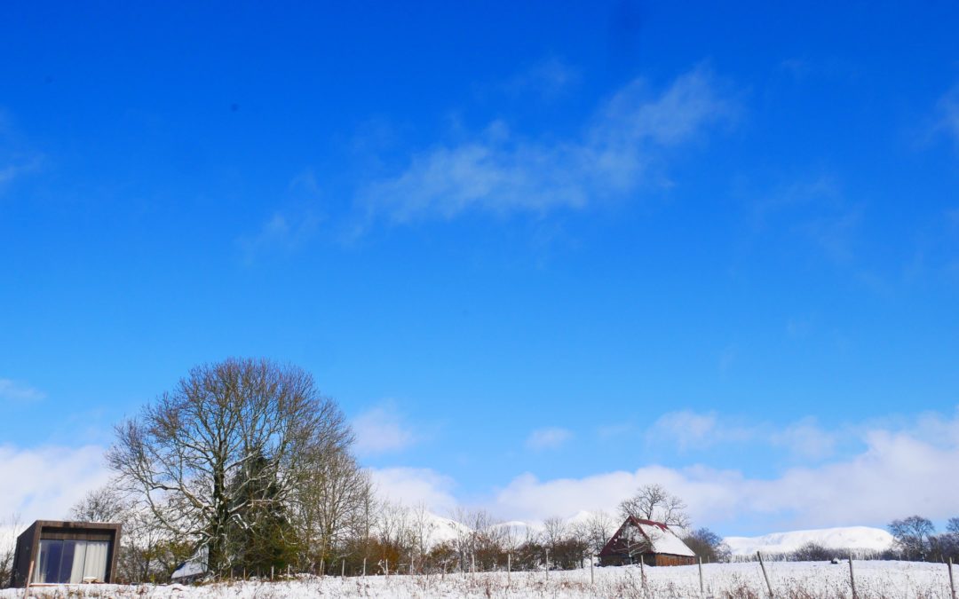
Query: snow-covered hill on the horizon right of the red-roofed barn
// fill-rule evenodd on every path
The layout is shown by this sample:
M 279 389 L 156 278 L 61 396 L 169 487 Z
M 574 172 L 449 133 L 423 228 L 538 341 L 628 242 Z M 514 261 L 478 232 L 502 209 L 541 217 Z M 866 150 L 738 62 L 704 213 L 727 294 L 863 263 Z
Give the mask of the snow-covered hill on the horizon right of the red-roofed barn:
M 787 553 L 814 542 L 830 549 L 863 549 L 882 551 L 893 543 L 893 536 L 881 528 L 869 526 L 846 526 L 817 530 L 795 530 L 787 533 L 772 533 L 761 537 L 727 537 L 726 544 L 733 555 L 763 553 Z

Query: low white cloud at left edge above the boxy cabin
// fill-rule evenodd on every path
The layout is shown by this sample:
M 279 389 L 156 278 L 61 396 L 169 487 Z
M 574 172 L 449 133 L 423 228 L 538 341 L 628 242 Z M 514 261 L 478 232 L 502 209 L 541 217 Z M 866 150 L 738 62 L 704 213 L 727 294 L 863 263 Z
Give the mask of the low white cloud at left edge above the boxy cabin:
M 65 518 L 74 503 L 109 477 L 102 447 L 0 446 L 0 515 L 18 514 L 26 522 Z

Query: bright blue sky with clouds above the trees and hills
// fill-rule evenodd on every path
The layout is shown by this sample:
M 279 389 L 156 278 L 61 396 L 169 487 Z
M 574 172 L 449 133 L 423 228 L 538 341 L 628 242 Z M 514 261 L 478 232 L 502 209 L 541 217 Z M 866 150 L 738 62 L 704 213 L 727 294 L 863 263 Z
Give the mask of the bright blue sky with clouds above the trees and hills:
M 437 512 L 956 516 L 959 8 L 767 5 L 0 10 L 0 510 L 254 356 Z

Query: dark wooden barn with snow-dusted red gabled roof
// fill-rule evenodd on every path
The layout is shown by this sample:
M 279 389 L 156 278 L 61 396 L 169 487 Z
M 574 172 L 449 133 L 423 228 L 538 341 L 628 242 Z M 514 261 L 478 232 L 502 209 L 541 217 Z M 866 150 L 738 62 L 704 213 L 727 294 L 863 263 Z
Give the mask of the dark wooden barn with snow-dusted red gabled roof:
M 692 565 L 696 554 L 666 524 L 626 518 L 599 552 L 599 565 Z

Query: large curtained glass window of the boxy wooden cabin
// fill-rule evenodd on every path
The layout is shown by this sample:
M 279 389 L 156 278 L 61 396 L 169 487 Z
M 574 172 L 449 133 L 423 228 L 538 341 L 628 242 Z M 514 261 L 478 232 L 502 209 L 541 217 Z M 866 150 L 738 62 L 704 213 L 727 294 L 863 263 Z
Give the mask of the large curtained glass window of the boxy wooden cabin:
M 108 541 L 40 540 L 34 583 L 48 585 L 104 582 Z

